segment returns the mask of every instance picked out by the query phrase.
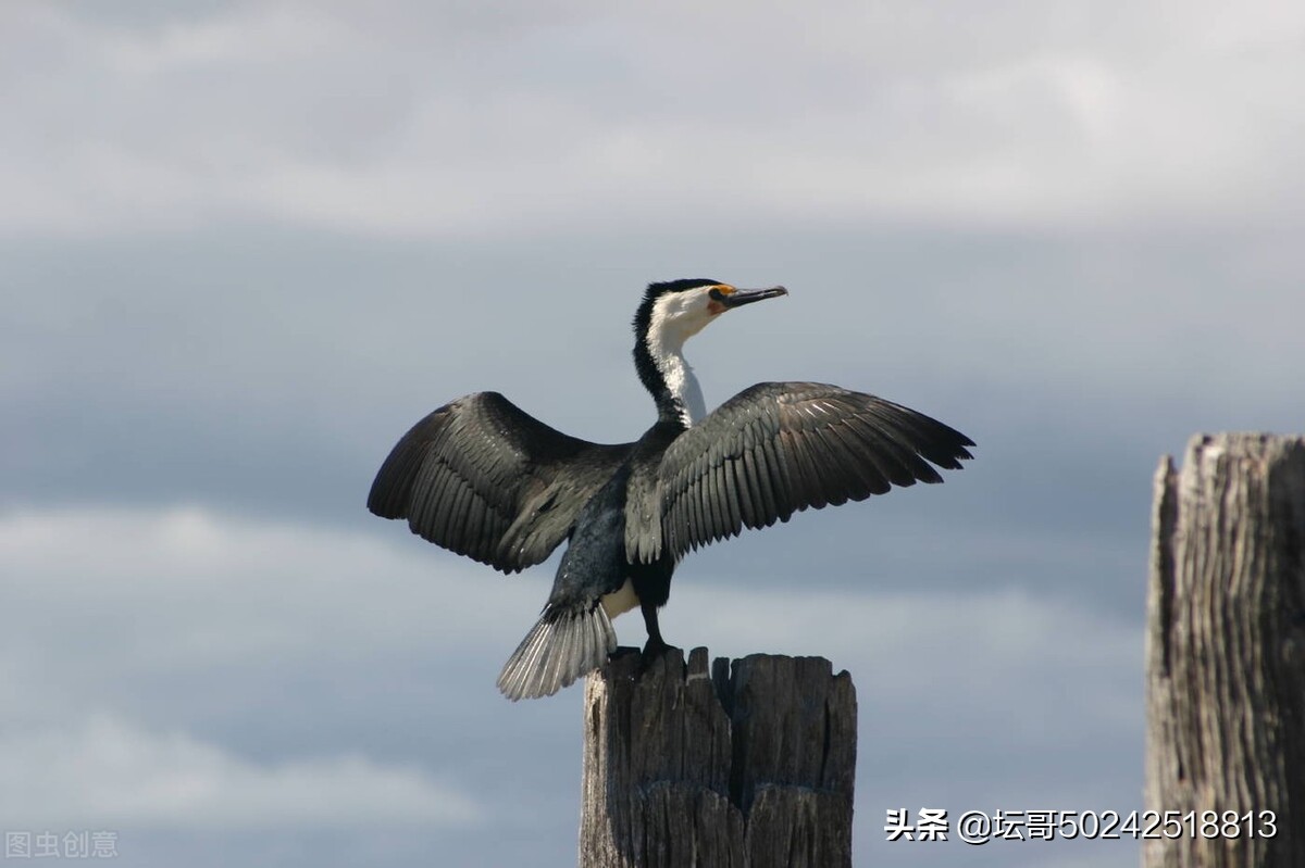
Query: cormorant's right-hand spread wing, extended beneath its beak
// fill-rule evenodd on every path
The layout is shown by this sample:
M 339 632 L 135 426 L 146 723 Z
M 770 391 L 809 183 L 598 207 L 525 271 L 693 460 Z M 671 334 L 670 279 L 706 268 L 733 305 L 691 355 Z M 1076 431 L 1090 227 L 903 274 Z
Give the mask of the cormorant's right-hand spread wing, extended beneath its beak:
M 651 508 L 626 525 L 626 553 L 647 562 L 664 546 L 679 558 L 808 507 L 941 482 L 930 461 L 959 469 L 971 457 L 967 446 L 974 442 L 960 431 L 874 395 L 758 383 L 671 443 Z

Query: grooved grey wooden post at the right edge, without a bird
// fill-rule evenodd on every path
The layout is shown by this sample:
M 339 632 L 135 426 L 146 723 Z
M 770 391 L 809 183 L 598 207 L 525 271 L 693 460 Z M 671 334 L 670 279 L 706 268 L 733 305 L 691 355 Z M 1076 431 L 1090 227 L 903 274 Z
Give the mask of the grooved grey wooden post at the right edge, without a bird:
M 1146 807 L 1274 811 L 1276 835 L 1198 825 L 1143 864 L 1305 868 L 1305 438 L 1193 438 L 1152 519 Z

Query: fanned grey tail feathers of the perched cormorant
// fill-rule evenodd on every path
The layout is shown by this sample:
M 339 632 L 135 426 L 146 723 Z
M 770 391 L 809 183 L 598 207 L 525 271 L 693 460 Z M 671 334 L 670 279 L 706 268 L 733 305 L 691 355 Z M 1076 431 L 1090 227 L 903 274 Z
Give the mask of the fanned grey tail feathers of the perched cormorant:
M 587 675 L 616 650 L 616 631 L 596 602 L 586 609 L 545 606 L 499 674 L 499 689 L 515 701 L 552 696 Z

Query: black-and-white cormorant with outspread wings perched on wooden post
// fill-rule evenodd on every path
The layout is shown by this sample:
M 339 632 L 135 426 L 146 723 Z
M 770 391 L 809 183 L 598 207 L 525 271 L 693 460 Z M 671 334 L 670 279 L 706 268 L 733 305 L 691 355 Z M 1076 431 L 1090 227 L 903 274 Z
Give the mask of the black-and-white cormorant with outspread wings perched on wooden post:
M 707 412 L 684 345 L 724 314 L 787 296 L 711 279 L 649 284 L 634 314 L 634 368 L 656 407 L 639 439 L 603 444 L 534 418 L 499 392 L 431 412 L 381 464 L 367 506 L 412 533 L 513 573 L 565 540 L 539 619 L 497 687 L 551 696 L 616 650 L 612 620 L 638 609 L 643 659 L 669 645 L 658 611 L 680 560 L 795 512 L 941 482 L 974 441 L 874 395 L 765 382 Z

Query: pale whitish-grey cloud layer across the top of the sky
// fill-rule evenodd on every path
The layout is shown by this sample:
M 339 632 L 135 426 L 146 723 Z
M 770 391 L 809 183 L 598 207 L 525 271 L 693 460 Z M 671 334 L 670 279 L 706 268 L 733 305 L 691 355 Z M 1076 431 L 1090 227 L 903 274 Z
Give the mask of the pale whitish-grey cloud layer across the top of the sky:
M 64 59 L 8 94 L 8 233 L 1220 222 L 1305 185 L 1305 16 L 1267 1 L 8 17 L 4 39 Z

